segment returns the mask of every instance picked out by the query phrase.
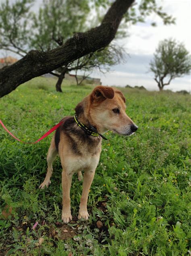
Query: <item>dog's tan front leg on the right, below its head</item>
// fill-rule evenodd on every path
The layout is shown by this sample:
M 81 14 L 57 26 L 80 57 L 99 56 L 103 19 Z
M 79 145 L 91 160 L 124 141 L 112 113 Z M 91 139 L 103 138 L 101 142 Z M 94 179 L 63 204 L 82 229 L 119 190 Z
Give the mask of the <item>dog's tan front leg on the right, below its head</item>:
M 93 181 L 94 174 L 95 174 L 95 170 L 93 171 L 85 170 L 84 172 L 83 191 L 82 191 L 81 201 L 79 206 L 78 219 L 84 218 L 85 220 L 87 220 L 89 218 L 89 214 L 87 212 L 87 198 L 88 198 L 91 183 Z

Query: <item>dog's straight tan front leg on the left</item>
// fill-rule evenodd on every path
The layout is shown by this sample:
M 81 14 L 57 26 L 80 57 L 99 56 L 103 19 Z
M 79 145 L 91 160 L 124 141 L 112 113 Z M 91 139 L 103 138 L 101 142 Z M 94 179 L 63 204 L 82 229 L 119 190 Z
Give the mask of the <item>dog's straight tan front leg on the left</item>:
M 70 207 L 70 188 L 72 182 L 72 174 L 62 171 L 62 220 L 68 223 L 72 220 Z

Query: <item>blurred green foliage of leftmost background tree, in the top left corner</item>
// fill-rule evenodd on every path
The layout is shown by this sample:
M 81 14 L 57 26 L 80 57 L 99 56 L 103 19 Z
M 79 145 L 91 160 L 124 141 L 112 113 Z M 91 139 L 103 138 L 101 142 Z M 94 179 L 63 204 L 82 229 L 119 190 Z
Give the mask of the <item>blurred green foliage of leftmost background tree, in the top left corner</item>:
M 0 49 L 24 56 L 29 50 L 31 17 L 34 0 L 8 0 L 0 4 Z

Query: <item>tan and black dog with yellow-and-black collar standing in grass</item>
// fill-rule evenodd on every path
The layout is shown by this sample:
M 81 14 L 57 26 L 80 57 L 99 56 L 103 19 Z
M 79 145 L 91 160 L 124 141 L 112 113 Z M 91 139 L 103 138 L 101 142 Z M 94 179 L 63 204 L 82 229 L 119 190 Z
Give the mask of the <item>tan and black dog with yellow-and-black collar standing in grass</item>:
M 99 163 L 102 133 L 113 131 L 121 135 L 131 135 L 137 129 L 125 109 L 125 97 L 112 87 L 97 86 L 75 108 L 75 116 L 67 116 L 52 137 L 47 154 L 46 178 L 39 188 L 51 183 L 52 162 L 58 154 L 62 164 L 62 220 L 72 220 L 70 188 L 72 176 L 78 173 L 79 179 L 84 170 L 83 191 L 79 205 L 78 219 L 87 220 L 87 199 L 96 167 Z

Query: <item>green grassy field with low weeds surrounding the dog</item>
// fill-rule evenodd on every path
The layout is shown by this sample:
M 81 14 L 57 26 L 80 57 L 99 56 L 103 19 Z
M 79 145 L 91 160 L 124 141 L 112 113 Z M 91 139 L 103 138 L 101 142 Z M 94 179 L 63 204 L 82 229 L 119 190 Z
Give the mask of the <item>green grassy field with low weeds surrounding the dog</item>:
M 65 82 L 63 93 L 57 93 L 54 83 L 35 78 L 0 99 L 0 118 L 17 138 L 37 140 L 63 116 L 73 115 L 92 89 Z M 102 143 L 89 193 L 87 221 L 76 217 L 82 182 L 74 175 L 73 221 L 62 224 L 59 158 L 49 188 L 38 188 L 46 174 L 51 136 L 22 144 L 0 128 L 0 255 L 191 254 L 191 97 L 122 91 L 127 114 L 139 129 L 130 137 L 105 133 L 108 140 Z M 98 220 L 103 226 L 96 225 Z

